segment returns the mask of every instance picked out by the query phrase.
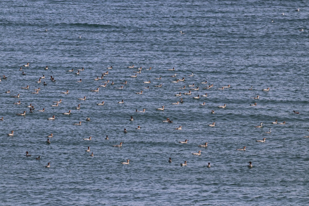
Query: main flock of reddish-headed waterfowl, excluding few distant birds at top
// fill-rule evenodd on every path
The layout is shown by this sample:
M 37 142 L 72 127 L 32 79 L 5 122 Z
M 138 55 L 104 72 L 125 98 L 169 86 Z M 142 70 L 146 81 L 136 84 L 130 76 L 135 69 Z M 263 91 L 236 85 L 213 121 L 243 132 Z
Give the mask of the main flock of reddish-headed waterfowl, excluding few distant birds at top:
M 24 65 L 24 67 L 26 67 L 26 68 L 29 68 L 29 63 L 27 63 L 26 65 Z M 22 69 L 22 68 L 21 68 Z M 45 67 L 45 70 L 46 69 L 48 69 L 48 67 L 46 66 Z M 107 69 L 112 69 L 112 66 L 110 66 L 110 67 L 108 67 Z M 134 67 L 134 65 L 132 65 L 132 66 L 129 66 L 128 67 L 128 73 L 129 72 L 135 72 L 134 70 L 132 71 L 132 69 L 135 69 L 135 67 Z M 150 67 L 149 69 L 146 69 L 146 70 L 151 70 L 152 68 Z M 141 74 L 142 72 L 142 67 L 140 67 L 140 68 L 138 68 L 138 73 L 139 74 Z M 176 69 L 175 68 L 173 68 L 173 69 L 168 69 L 168 70 L 173 70 L 173 71 L 176 71 Z M 68 72 L 73 72 L 74 70 L 72 69 L 72 70 L 69 70 Z M 78 69 L 78 73 L 76 73 L 77 75 L 78 74 L 80 74 L 79 72 L 80 71 L 84 71 L 84 68 L 83 69 Z M 25 74 L 25 73 L 23 73 L 23 74 Z M 99 78 L 99 77 L 97 77 L 97 78 L 95 78 L 94 79 L 94 81 L 97 81 L 97 80 L 103 80 L 106 76 L 108 75 L 108 71 L 106 72 L 106 73 L 103 73 L 103 75 L 101 76 L 101 78 Z M 177 73 L 175 73 L 174 75 L 172 75 L 172 76 L 170 76 L 170 77 L 173 77 L 173 78 L 176 78 L 176 75 L 177 75 Z M 191 75 L 188 75 L 189 77 L 193 77 L 194 75 L 193 75 L 193 73 L 191 74 Z M 136 78 L 136 77 L 138 77 L 137 75 L 134 75 L 134 76 L 130 76 L 130 78 Z M 40 80 L 39 80 L 39 82 L 37 82 L 37 83 L 40 83 L 41 82 L 41 79 L 44 79 L 45 78 L 45 76 L 43 75 L 41 78 L 40 78 Z M 155 79 L 157 79 L 157 80 L 161 80 L 161 79 L 163 79 L 163 78 L 165 78 L 165 77 L 159 77 L 159 78 L 155 78 Z M 3 78 L 2 79 L 7 79 L 7 77 L 5 76 L 5 75 L 3 75 Z M 51 76 L 50 77 L 50 81 L 56 81 L 54 78 L 53 78 L 53 76 Z M 129 81 L 129 80 L 128 80 Z M 126 84 L 128 84 L 129 82 L 128 81 L 125 81 L 125 82 L 120 82 L 121 84 L 124 84 L 124 85 L 126 85 Z M 178 82 L 184 82 L 185 81 L 185 78 L 183 77 L 183 78 L 180 78 L 180 79 L 176 79 L 176 81 L 172 81 L 172 83 L 178 83 Z M 79 81 L 78 82 L 82 82 L 82 79 L 79 79 Z M 114 85 L 115 83 L 112 81 L 112 83 L 110 83 L 110 81 L 109 80 L 107 80 L 107 81 L 104 81 L 104 82 L 106 82 L 104 85 L 99 85 L 99 86 L 101 86 L 101 87 L 106 87 L 108 84 L 111 84 L 111 85 Z M 117 82 L 118 83 L 118 82 Z M 151 82 L 151 80 L 149 80 L 149 81 L 144 81 L 143 82 L 143 84 L 150 84 L 150 83 L 152 83 Z M 207 81 L 205 81 L 205 82 L 201 82 L 201 84 L 207 84 Z M 47 85 L 45 82 L 44 82 L 44 85 Z M 160 85 L 154 85 L 154 87 L 162 87 L 163 86 L 163 84 L 160 84 Z M 193 95 L 193 91 L 198 91 L 198 90 L 209 90 L 210 88 L 212 88 L 213 86 L 214 86 L 214 84 L 210 84 L 209 86 L 206 86 L 206 87 L 195 87 L 195 85 L 194 85 L 194 83 L 192 84 L 192 85 L 184 85 L 184 86 L 182 86 L 182 87 L 180 87 L 179 89 L 186 89 L 186 86 L 188 86 L 189 88 L 190 88 L 190 90 L 187 92 L 187 93 L 181 93 L 181 92 L 179 92 L 178 94 L 175 94 L 175 96 L 176 97 L 182 97 L 182 95 L 185 95 L 185 96 L 187 96 L 188 98 L 189 97 L 191 97 L 191 95 Z M 30 86 L 29 85 L 27 85 L 26 87 L 21 87 L 21 89 L 26 89 L 26 90 L 28 90 L 30 88 Z M 116 89 L 123 89 L 124 88 L 124 86 L 121 86 L 121 87 L 116 87 Z M 146 87 L 145 89 L 149 89 L 150 87 L 148 86 L 148 87 Z M 222 87 L 219 87 L 219 88 L 217 88 L 218 90 L 224 90 L 224 89 L 228 89 L 228 88 L 231 88 L 231 85 L 228 85 L 228 86 L 222 86 Z M 270 89 L 271 88 L 267 88 L 267 89 L 262 89 L 262 92 L 269 92 L 270 91 Z M 39 91 L 41 91 L 41 89 L 40 89 L 40 87 L 38 88 L 38 89 L 34 89 L 34 90 L 36 90 L 36 92 L 32 92 L 32 94 L 38 94 L 39 93 Z M 253 90 L 253 86 L 251 86 L 251 88 L 249 88 L 249 90 Z M 90 92 L 99 92 L 99 87 L 97 88 L 97 89 L 95 89 L 95 90 L 89 90 Z M 6 94 L 9 94 L 10 93 L 10 90 L 8 90 L 8 91 L 6 91 L 5 92 Z M 70 93 L 70 90 L 66 90 L 66 91 L 64 91 L 64 92 L 61 92 L 62 94 L 69 94 Z M 135 92 L 135 94 L 136 95 L 143 95 L 143 91 L 141 90 L 141 92 Z M 14 98 L 21 98 L 20 97 L 20 94 L 18 94 L 18 95 L 11 95 L 11 97 L 14 97 Z M 197 95 L 197 96 L 195 96 L 195 97 L 193 97 L 193 99 L 199 99 L 199 98 L 201 98 L 201 97 L 207 97 L 207 93 L 205 93 L 205 95 Z M 259 95 L 257 96 L 257 97 L 252 97 L 253 99 L 259 99 Z M 78 100 L 86 100 L 86 96 L 84 96 L 83 98 L 77 98 Z M 50 105 L 51 107 L 58 107 L 59 106 L 59 104 L 61 104 L 62 103 L 62 101 L 63 101 L 63 99 L 60 99 L 59 101 L 53 101 L 53 103 L 56 103 L 56 104 L 53 104 L 53 105 Z M 124 102 L 124 100 L 121 100 L 121 101 L 119 101 L 119 102 L 117 102 L 117 103 L 119 103 L 119 104 L 123 104 L 123 103 L 125 103 Z M 180 101 L 177 101 L 176 103 L 171 103 L 171 104 L 179 104 L 179 103 L 184 103 L 184 101 L 183 101 L 183 98 L 180 98 Z M 15 105 L 19 105 L 19 104 L 21 104 L 21 101 L 18 101 L 18 103 L 14 103 Z M 97 105 L 104 105 L 104 101 L 102 102 L 102 103 L 97 103 Z M 205 105 L 205 102 L 203 103 L 203 104 L 199 104 L 199 105 L 201 105 L 201 106 L 203 106 L 203 105 Z M 257 103 L 254 103 L 254 104 L 250 104 L 251 106 L 256 106 L 257 105 Z M 30 111 L 29 112 L 34 112 L 35 111 L 35 108 L 34 108 L 34 106 L 32 105 L 32 103 L 29 105 L 29 106 L 27 106 L 27 107 L 29 107 L 29 109 L 30 109 Z M 219 108 L 219 109 L 224 109 L 224 108 L 226 108 L 227 107 L 227 104 L 224 104 L 223 106 L 222 105 L 220 105 L 220 106 L 217 106 L 217 108 Z M 81 108 L 81 104 L 78 104 L 78 106 L 77 107 L 75 107 L 77 110 L 79 110 L 80 108 Z M 155 108 L 153 108 L 153 109 L 155 109 Z M 160 107 L 160 108 L 156 108 L 156 110 L 161 110 L 161 111 L 163 111 L 165 109 L 165 106 L 163 105 L 162 107 Z M 42 110 L 37 110 L 38 112 L 44 112 L 45 111 L 45 108 L 43 108 Z M 26 112 L 27 111 L 23 111 L 23 113 L 17 113 L 16 115 L 20 115 L 20 116 L 25 116 L 26 115 Z M 138 109 L 136 109 L 136 112 L 146 112 L 146 109 L 144 108 L 142 111 L 138 111 Z M 297 112 L 297 111 L 293 111 L 294 112 L 294 114 L 299 114 L 299 112 Z M 210 111 L 210 113 L 211 114 L 215 114 L 215 111 L 214 110 L 211 110 Z M 71 114 L 71 110 L 69 110 L 68 112 L 64 112 L 64 113 L 62 113 L 63 115 L 70 115 Z M 56 116 L 58 116 L 59 114 L 57 114 L 57 115 L 53 115 L 52 117 L 49 117 L 48 118 L 48 120 L 55 120 L 57 117 Z M 3 117 L 1 117 L 1 119 L 0 120 L 5 120 Z M 133 119 L 133 116 L 130 116 L 130 119 L 129 119 L 130 121 L 133 121 L 134 119 Z M 89 117 L 87 117 L 87 119 L 86 119 L 86 121 L 91 121 L 91 119 L 89 118 Z M 172 120 L 170 120 L 169 118 L 167 118 L 166 120 L 162 120 L 162 122 L 167 122 L 167 123 L 172 123 L 173 121 Z M 74 123 L 73 125 L 81 125 L 82 124 L 82 121 L 79 121 L 79 123 Z M 275 122 L 272 122 L 271 124 L 286 124 L 286 122 L 284 121 L 283 123 L 278 123 L 277 122 L 277 120 L 275 121 Z M 216 126 L 216 124 L 215 124 L 215 122 L 213 122 L 212 124 L 208 124 L 208 126 L 210 126 L 210 127 L 215 127 Z M 181 130 L 183 128 L 183 126 L 179 126 L 178 128 L 175 128 L 175 130 Z M 255 128 L 263 128 L 263 122 L 261 122 L 260 123 L 260 125 L 258 125 L 258 126 L 255 126 Z M 136 128 L 136 129 L 141 129 L 140 128 L 140 126 L 138 126 L 138 128 Z M 124 128 L 124 133 L 126 133 L 126 132 L 128 132 L 127 130 L 126 130 L 126 128 Z M 271 133 L 271 128 L 269 128 L 269 132 L 265 132 L 265 133 L 268 133 L 268 134 L 270 134 Z M 12 130 L 11 131 L 11 133 L 8 133 L 7 134 L 8 136 L 10 136 L 10 137 L 13 137 L 14 136 L 14 131 Z M 48 139 L 47 139 L 47 141 L 46 141 L 46 143 L 47 144 L 50 144 L 51 143 L 51 141 L 50 141 L 50 139 L 49 138 L 52 138 L 53 137 L 53 133 L 51 133 L 50 135 L 48 135 L 47 136 L 48 137 Z M 308 137 L 308 136 L 307 136 Z M 108 138 L 108 136 L 106 136 L 106 138 L 105 138 L 106 140 L 108 140 L 109 138 Z M 265 139 L 266 138 L 263 138 L 263 140 L 256 140 L 256 142 L 265 142 Z M 83 138 L 83 140 L 85 140 L 85 141 L 91 141 L 92 140 L 92 137 L 89 137 L 89 138 Z M 179 143 L 180 144 L 187 144 L 188 143 L 188 140 L 186 139 L 185 141 L 179 141 Z M 122 144 L 123 144 L 123 142 L 120 142 L 120 144 L 119 145 L 112 145 L 112 146 L 114 146 L 114 147 L 121 147 L 122 146 Z M 205 142 L 205 144 L 201 144 L 201 145 L 197 145 L 197 146 L 199 146 L 199 147 L 207 147 L 208 145 L 208 142 Z M 246 150 L 246 146 L 243 146 L 243 148 L 240 148 L 240 149 L 236 149 L 236 150 L 239 150 L 239 151 L 245 151 Z M 88 146 L 88 149 L 86 149 L 85 150 L 86 152 L 90 152 L 91 150 L 90 150 L 90 147 Z M 192 153 L 193 155 L 201 155 L 201 150 L 199 150 L 198 151 L 198 153 Z M 93 154 L 93 152 L 91 153 L 91 155 L 90 155 L 91 157 L 94 157 L 94 154 Z M 29 154 L 28 153 L 28 151 L 26 152 L 26 157 L 31 157 L 31 154 Z M 36 160 L 40 160 L 40 156 L 38 156 L 38 158 L 36 158 Z M 127 162 L 121 162 L 122 164 L 125 164 L 125 165 L 128 165 L 129 164 L 129 159 L 127 160 Z M 168 162 L 172 162 L 172 160 L 171 160 L 171 158 L 169 158 L 169 161 Z M 184 163 L 181 163 L 180 165 L 181 166 L 186 166 L 187 165 L 187 162 L 188 161 L 185 161 Z M 252 164 L 251 164 L 251 162 L 249 162 L 250 164 L 248 165 L 249 167 L 252 167 Z M 46 167 L 50 167 L 50 163 L 48 163 L 48 165 L 46 165 Z M 207 167 L 210 167 L 210 163 L 208 163 L 208 166 Z

